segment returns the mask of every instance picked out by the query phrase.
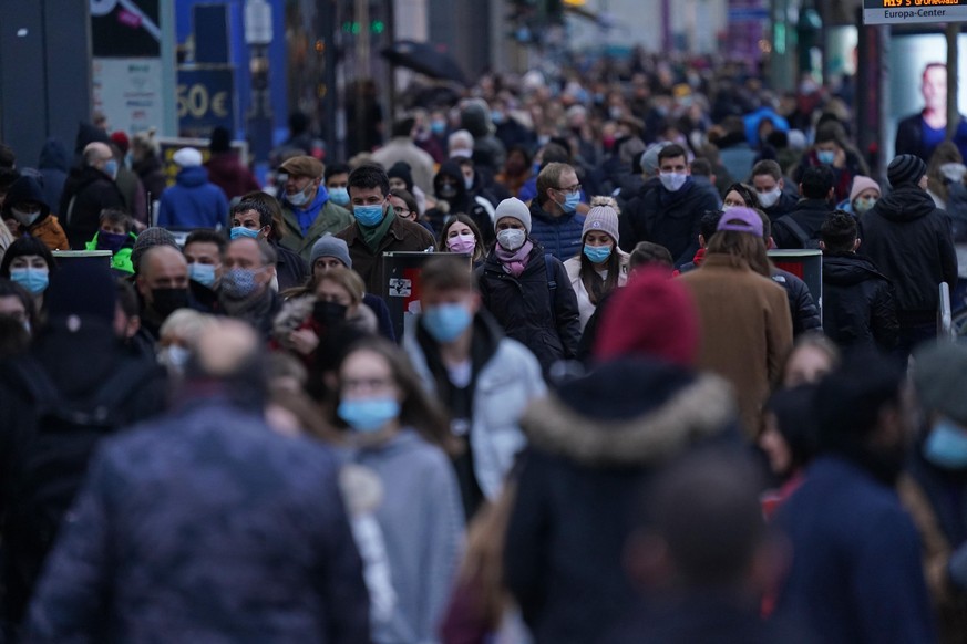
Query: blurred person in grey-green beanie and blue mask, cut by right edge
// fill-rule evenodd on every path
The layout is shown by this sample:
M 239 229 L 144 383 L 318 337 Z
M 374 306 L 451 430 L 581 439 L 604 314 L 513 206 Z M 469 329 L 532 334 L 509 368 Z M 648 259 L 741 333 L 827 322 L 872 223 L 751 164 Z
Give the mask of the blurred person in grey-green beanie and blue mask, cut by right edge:
M 940 642 L 967 634 L 967 347 L 914 354 L 913 382 L 925 432 L 907 460 L 899 497 L 920 531 Z

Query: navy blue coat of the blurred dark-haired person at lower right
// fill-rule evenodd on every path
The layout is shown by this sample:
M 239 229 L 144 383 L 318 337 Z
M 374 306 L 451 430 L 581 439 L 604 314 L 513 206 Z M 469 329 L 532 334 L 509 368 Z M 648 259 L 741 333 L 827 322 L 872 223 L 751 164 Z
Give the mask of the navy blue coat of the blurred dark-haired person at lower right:
M 775 522 L 793 549 L 780 614 L 801 616 L 825 644 L 935 641 L 919 536 L 893 488 L 823 457 Z

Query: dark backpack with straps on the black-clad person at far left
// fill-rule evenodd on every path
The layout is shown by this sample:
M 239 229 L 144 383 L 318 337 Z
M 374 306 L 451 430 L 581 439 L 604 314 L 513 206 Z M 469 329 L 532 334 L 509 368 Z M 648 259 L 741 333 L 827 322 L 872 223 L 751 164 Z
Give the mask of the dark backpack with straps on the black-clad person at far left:
M 158 367 L 148 361 L 122 361 L 93 396 L 73 401 L 61 394 L 37 361 L 12 361 L 7 366 L 7 380 L 19 381 L 35 405 L 32 425 L 24 428 L 12 460 L 4 540 L 17 569 L 8 570 L 12 578 L 7 580 L 13 600 L 17 591 L 29 598 L 99 443 L 131 422 L 119 413 L 119 405 L 154 381 Z

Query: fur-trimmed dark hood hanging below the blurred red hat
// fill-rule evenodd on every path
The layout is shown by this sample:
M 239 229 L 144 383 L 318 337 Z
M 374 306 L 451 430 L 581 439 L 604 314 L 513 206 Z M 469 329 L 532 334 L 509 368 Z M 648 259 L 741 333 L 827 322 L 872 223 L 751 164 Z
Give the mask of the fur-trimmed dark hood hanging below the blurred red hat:
M 632 467 L 724 438 L 735 430 L 734 418 L 732 391 L 722 378 L 620 360 L 535 401 L 522 427 L 533 445 L 578 464 Z

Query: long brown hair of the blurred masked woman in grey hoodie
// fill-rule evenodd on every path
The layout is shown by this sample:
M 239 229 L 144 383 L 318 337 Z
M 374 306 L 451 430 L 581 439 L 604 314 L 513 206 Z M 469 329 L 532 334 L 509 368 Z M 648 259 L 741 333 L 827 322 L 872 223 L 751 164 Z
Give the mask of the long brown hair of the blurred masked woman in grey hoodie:
M 350 355 L 360 351 L 376 353 L 390 365 L 393 382 L 402 396 L 400 424 L 404 427 L 412 427 L 429 443 L 439 446 L 448 454 L 453 454 L 456 445 L 450 433 L 446 415 L 426 395 L 420 376 L 413 371 L 403 350 L 382 337 L 366 337 L 349 347 L 342 356 L 342 362 L 344 363 Z

